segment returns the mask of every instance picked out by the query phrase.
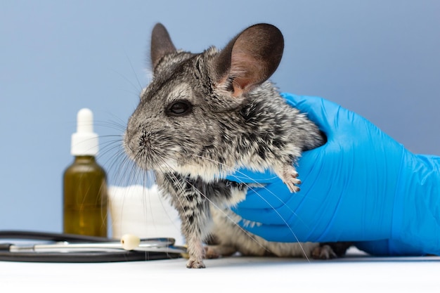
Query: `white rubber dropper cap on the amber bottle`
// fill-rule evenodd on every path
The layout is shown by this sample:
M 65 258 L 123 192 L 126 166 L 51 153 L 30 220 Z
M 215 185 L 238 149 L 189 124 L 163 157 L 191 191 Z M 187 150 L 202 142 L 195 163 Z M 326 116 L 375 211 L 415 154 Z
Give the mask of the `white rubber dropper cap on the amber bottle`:
M 70 153 L 74 156 L 96 156 L 98 150 L 98 134 L 93 132 L 93 113 L 83 108 L 77 114 L 77 132 L 72 134 Z

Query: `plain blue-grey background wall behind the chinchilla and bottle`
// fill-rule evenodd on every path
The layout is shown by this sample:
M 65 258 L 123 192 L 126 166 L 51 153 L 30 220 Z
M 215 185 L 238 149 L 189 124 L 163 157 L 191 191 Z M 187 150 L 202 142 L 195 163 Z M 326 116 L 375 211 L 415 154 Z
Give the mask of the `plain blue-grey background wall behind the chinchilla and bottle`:
M 281 91 L 333 100 L 440 155 L 439 15 L 436 0 L 1 1 L 0 229 L 61 231 L 81 108 L 95 115 L 110 184 L 131 182 L 117 145 L 148 84 L 155 22 L 195 52 L 272 23 L 285 36 Z

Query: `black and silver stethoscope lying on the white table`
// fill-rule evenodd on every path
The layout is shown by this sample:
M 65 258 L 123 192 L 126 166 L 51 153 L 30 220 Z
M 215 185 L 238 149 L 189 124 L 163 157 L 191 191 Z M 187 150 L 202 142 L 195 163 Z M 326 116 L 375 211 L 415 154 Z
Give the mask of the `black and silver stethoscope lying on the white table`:
M 174 245 L 174 238 L 140 239 L 124 235 L 121 240 L 63 233 L 0 231 L 0 261 L 96 263 L 115 261 L 150 261 L 176 259 L 186 254 L 186 247 Z M 11 240 L 41 242 L 14 244 Z

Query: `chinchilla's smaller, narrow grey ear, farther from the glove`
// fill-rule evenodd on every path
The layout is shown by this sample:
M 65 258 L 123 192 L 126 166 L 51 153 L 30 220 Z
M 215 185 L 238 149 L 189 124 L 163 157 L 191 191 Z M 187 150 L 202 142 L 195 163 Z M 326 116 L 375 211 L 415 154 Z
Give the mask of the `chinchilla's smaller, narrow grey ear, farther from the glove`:
M 174 46 L 167 29 L 162 23 L 157 23 L 151 33 L 151 65 L 153 65 L 153 71 L 163 56 L 174 53 L 176 47 Z

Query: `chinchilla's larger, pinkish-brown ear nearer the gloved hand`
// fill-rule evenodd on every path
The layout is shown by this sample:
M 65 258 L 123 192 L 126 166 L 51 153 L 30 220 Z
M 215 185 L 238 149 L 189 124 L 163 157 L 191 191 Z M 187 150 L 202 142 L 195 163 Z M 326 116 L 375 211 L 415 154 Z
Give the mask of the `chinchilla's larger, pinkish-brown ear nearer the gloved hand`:
M 265 82 L 280 64 L 284 38 L 273 25 L 248 27 L 232 39 L 214 62 L 216 85 L 240 96 Z

